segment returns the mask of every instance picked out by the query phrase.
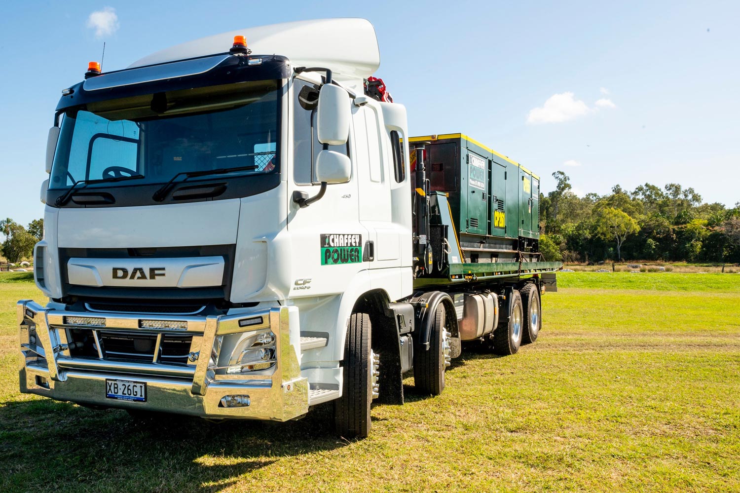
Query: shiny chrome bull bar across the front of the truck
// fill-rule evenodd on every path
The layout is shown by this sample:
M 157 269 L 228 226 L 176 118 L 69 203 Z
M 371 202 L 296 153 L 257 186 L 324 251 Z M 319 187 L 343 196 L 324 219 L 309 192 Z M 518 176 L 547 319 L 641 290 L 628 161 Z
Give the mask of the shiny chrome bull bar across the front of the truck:
M 30 300 L 19 301 L 21 392 L 56 400 L 124 409 L 144 409 L 201 417 L 290 420 L 309 409 L 309 383 L 300 376 L 300 334 L 297 308 L 280 306 L 238 315 L 151 315 L 107 312 L 67 312 Z M 249 325 L 240 321 L 248 319 Z M 100 351 L 98 331 L 141 331 L 142 321 L 181 323 L 178 334 L 192 335 L 187 365 L 110 360 Z M 258 321 L 258 323 L 255 323 Z M 90 323 L 91 325 L 85 325 Z M 67 329 L 90 329 L 98 343 L 98 358 L 73 355 Z M 270 329 L 275 334 L 275 366 L 270 372 L 217 375 L 223 336 Z M 165 330 L 161 330 L 165 332 Z M 174 332 L 171 329 L 169 332 Z M 157 341 L 161 341 L 161 335 Z M 72 346 L 72 347 L 70 347 Z M 147 384 L 146 402 L 106 397 L 107 378 Z M 223 406 L 229 395 L 246 395 L 246 406 Z

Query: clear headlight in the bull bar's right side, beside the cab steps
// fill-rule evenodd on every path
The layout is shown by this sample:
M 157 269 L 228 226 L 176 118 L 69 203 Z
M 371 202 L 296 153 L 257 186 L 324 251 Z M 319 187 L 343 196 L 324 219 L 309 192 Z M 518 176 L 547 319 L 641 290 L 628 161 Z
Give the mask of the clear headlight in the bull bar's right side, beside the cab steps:
M 269 329 L 224 335 L 217 369 L 227 374 L 269 369 L 275 366 L 276 351 L 275 334 Z

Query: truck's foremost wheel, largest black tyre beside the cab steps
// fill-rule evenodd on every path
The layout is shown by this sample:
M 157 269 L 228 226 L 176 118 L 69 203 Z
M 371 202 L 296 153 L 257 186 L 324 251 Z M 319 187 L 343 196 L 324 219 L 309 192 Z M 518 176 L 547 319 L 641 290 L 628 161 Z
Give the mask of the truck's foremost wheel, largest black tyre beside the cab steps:
M 342 397 L 334 400 L 337 435 L 348 439 L 364 438 L 370 433 L 370 403 L 377 379 L 377 358 L 370 349 L 371 332 L 366 313 L 351 315 L 344 343 Z

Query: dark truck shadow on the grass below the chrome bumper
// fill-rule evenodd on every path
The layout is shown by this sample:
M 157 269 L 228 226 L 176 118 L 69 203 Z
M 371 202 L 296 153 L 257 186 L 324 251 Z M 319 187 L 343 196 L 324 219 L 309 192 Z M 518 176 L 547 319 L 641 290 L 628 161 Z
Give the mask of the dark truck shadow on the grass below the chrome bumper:
M 0 403 L 0 491 L 216 492 L 280 457 L 348 444 L 332 425 L 330 406 L 287 423 L 212 423 L 10 400 Z

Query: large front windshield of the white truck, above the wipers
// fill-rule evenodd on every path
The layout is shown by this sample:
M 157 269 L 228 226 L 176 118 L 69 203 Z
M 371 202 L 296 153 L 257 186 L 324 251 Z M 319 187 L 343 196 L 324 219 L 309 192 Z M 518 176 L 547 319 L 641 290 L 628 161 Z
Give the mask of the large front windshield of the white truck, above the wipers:
M 179 172 L 240 168 L 226 175 L 279 170 L 280 81 L 257 81 L 114 99 L 64 113 L 50 190 L 77 181 L 142 175 L 86 188 L 162 184 Z M 246 167 L 254 167 L 244 170 Z M 122 192 L 119 192 L 122 193 Z

